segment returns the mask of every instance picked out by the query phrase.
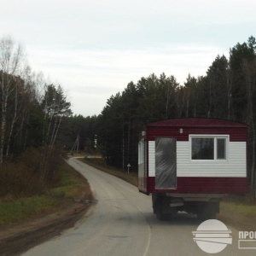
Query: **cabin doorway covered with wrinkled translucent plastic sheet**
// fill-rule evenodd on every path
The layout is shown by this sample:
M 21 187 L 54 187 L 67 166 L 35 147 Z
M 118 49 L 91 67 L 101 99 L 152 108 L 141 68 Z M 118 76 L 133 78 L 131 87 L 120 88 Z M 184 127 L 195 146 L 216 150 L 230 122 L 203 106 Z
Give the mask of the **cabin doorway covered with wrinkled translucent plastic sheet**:
M 176 189 L 176 138 L 155 138 L 155 189 Z

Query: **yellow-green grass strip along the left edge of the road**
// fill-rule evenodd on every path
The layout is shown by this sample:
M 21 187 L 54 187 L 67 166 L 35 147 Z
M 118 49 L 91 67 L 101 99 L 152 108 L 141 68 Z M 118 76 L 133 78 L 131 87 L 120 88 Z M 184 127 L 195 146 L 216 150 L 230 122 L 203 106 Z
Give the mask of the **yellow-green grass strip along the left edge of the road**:
M 0 198 L 0 225 L 14 224 L 37 218 L 68 207 L 81 195 L 90 197 L 90 186 L 84 188 L 84 180 L 78 172 L 63 160 L 56 173 L 54 188 L 42 195 L 19 198 Z

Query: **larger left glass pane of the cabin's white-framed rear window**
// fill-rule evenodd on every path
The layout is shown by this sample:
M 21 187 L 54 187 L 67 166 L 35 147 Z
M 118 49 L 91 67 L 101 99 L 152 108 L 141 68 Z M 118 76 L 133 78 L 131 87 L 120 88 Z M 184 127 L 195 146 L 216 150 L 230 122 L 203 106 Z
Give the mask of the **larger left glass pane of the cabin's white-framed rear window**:
M 192 160 L 214 160 L 214 138 L 192 138 Z

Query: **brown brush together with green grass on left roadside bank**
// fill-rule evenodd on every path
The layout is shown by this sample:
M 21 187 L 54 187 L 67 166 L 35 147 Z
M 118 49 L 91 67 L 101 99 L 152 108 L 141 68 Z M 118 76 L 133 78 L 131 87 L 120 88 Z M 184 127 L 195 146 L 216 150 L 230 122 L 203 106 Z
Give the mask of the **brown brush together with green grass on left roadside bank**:
M 44 183 L 40 183 L 37 172 L 34 172 L 36 162 L 26 160 L 11 162 L 2 172 L 0 225 L 56 212 L 81 195 L 91 199 L 89 184 L 65 160 L 60 158 L 54 179 Z

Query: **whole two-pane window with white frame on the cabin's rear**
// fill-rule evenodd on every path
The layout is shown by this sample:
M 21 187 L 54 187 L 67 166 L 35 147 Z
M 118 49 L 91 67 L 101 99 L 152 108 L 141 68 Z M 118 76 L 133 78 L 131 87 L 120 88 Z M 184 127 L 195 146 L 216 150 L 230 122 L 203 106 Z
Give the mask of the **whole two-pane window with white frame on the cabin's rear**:
M 227 138 L 219 136 L 191 136 L 191 159 L 226 160 Z

